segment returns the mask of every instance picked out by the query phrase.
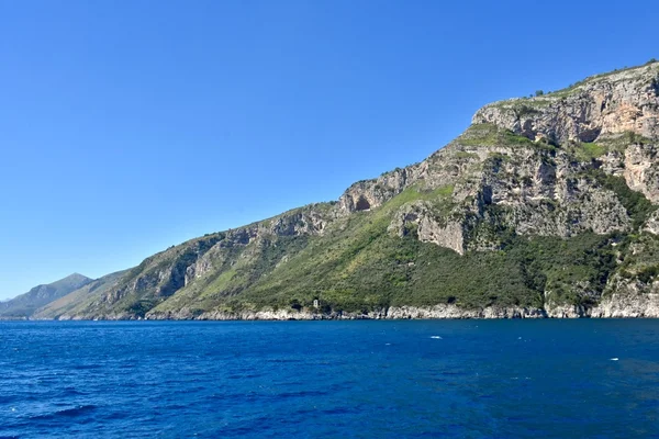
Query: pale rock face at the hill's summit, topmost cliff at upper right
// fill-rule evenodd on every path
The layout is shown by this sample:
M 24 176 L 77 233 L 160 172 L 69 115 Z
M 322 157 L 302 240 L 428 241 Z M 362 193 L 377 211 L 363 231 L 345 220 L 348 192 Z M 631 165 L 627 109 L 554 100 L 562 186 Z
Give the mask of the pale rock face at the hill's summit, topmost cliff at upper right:
M 534 140 L 544 137 L 560 144 L 625 132 L 657 138 L 658 72 L 655 63 L 587 79 L 569 93 L 495 102 L 476 113 L 472 123 L 493 123 Z

